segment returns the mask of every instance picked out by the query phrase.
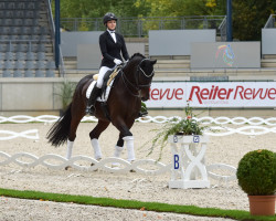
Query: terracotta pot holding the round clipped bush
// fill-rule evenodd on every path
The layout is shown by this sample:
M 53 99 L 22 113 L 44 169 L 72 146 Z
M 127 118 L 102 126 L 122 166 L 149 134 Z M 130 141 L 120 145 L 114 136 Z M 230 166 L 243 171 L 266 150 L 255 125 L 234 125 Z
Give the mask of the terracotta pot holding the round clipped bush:
M 274 215 L 276 196 L 248 196 L 252 215 Z

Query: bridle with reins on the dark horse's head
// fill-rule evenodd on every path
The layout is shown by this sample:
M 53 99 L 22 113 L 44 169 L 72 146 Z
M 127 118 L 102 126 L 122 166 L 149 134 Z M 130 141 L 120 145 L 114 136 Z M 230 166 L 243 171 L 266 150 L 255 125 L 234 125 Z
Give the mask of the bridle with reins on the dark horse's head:
M 141 69 L 141 63 L 145 61 L 145 60 L 149 60 L 149 59 L 144 59 L 140 61 L 140 63 L 137 65 L 137 70 L 136 70 L 136 74 L 135 74 L 135 84 L 131 83 L 126 74 L 123 72 L 123 69 L 121 69 L 121 78 L 123 78 L 123 82 L 126 86 L 126 88 L 128 90 L 128 92 L 132 95 L 132 96 L 137 96 L 137 97 L 140 97 L 140 91 L 144 88 L 144 87 L 150 87 L 151 85 L 151 82 L 149 84 L 139 84 L 139 80 L 140 80 L 140 75 L 142 74 L 142 76 L 149 78 L 149 77 L 152 77 L 155 75 L 155 70 L 152 70 L 152 72 L 150 74 L 147 74 L 142 69 Z M 137 94 L 134 94 L 131 88 L 134 88 Z

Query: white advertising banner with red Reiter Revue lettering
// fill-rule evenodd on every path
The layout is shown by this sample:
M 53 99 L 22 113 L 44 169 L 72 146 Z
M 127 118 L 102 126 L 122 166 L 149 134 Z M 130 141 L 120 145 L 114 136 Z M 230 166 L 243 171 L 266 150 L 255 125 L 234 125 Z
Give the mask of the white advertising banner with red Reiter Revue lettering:
M 276 107 L 276 82 L 153 82 L 147 107 Z

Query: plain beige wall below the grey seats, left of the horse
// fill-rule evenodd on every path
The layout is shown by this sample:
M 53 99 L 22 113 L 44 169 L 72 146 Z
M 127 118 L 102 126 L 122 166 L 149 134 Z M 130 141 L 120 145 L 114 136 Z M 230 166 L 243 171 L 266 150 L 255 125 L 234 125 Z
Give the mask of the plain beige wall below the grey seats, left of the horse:
M 63 78 L 0 78 L 0 115 L 59 113 L 63 82 Z

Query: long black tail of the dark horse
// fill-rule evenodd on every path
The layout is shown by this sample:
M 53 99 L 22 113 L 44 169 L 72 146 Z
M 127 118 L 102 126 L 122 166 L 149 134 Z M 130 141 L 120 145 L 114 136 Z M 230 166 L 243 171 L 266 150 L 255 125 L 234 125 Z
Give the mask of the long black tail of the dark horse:
M 68 138 L 71 120 L 72 120 L 71 107 L 72 103 L 68 105 L 67 109 L 63 113 L 60 119 L 52 126 L 52 128 L 49 130 L 46 135 L 49 143 L 51 143 L 55 147 L 63 145 Z

